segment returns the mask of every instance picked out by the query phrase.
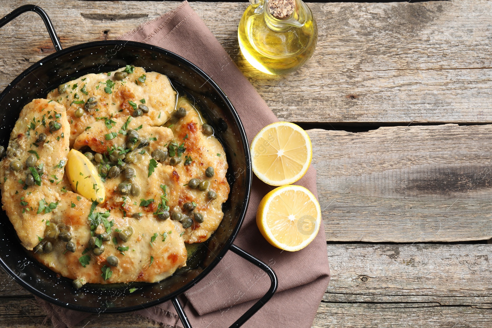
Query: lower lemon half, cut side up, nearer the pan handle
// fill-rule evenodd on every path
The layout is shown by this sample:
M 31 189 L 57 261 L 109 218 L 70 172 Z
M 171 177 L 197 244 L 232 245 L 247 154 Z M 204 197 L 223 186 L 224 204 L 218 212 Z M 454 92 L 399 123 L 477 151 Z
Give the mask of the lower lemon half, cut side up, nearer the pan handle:
M 306 247 L 318 234 L 321 209 L 305 187 L 285 185 L 263 197 L 256 224 L 269 243 L 293 252 Z

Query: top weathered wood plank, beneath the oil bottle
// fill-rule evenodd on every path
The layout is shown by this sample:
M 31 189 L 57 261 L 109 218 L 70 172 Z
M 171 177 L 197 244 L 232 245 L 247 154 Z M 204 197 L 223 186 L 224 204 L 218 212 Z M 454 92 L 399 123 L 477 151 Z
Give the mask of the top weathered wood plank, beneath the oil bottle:
M 1 15 L 29 0 L 0 2 Z M 174 8 L 170 1 L 44 0 L 64 47 L 113 39 Z M 333 123 L 492 122 L 492 2 L 310 3 L 318 48 L 296 73 L 270 76 L 241 55 L 246 3 L 191 2 L 279 119 Z M 54 51 L 41 20 L 26 13 L 0 30 L 6 86 Z

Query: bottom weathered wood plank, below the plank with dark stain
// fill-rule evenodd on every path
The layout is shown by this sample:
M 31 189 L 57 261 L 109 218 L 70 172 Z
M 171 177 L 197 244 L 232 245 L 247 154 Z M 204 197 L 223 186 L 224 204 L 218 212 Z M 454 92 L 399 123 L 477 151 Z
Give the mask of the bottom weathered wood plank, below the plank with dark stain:
M 488 256 L 492 245 L 328 244 L 327 248 L 332 280 L 313 328 L 492 326 Z M 5 280 L 8 277 L 0 271 L 0 290 Z M 19 287 L 16 293 L 0 293 L 2 327 L 51 327 L 33 297 L 21 291 Z M 159 327 L 128 313 L 91 316 L 77 327 L 116 328 L 122 322 L 130 328 Z

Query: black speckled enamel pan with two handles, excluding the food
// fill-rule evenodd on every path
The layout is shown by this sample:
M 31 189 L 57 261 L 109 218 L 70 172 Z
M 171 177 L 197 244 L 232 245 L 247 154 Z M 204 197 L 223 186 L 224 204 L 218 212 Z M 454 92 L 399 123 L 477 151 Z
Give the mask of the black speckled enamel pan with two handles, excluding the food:
M 0 94 L 0 144 L 5 148 L 20 110 L 33 98 L 44 98 L 49 90 L 88 73 L 107 72 L 124 65 L 142 66 L 165 74 L 173 86 L 194 100 L 214 127 L 227 155 L 229 199 L 223 205 L 224 218 L 215 234 L 188 259 L 187 266 L 154 284 L 142 284 L 129 293 L 128 286 L 86 285 L 76 290 L 71 281 L 32 259 L 21 246 L 4 211 L 0 212 L 0 265 L 31 293 L 69 309 L 92 313 L 133 311 L 171 300 L 185 328 L 191 325 L 178 300 L 205 277 L 228 250 L 264 270 L 271 287 L 231 327 L 240 327 L 277 290 L 277 276 L 265 263 L 233 244 L 246 214 L 251 186 L 251 161 L 241 120 L 224 92 L 201 69 L 165 49 L 140 42 L 98 41 L 62 50 L 60 40 L 46 12 L 24 5 L 0 20 L 0 27 L 26 11 L 43 19 L 56 53 L 39 60 L 12 81 Z

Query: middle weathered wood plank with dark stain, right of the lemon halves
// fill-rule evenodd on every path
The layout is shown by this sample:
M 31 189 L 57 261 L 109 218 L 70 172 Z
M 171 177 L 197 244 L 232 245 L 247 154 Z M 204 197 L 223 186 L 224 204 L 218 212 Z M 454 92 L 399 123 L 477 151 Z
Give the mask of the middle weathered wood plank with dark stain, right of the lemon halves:
M 327 240 L 492 238 L 492 125 L 308 134 Z

